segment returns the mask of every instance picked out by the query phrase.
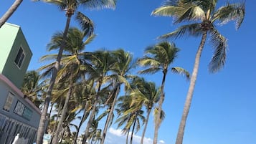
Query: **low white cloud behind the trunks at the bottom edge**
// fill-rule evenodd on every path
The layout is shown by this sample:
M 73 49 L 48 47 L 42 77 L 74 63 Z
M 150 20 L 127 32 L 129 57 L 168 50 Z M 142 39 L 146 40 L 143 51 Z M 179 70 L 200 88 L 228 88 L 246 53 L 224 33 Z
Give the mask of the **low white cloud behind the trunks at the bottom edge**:
M 131 135 L 131 133 L 129 133 Z M 107 137 L 105 139 L 106 144 L 115 144 L 115 143 L 125 143 L 126 135 L 123 135 L 122 130 L 120 129 L 114 129 L 110 128 L 108 130 Z M 130 140 L 130 137 L 129 137 Z M 144 144 L 151 144 L 153 143 L 153 140 L 151 138 L 144 137 L 143 139 Z M 133 134 L 133 143 L 134 144 L 140 144 L 141 143 L 141 136 L 140 135 L 134 135 Z M 159 140 L 158 144 L 164 144 L 165 142 L 163 140 Z

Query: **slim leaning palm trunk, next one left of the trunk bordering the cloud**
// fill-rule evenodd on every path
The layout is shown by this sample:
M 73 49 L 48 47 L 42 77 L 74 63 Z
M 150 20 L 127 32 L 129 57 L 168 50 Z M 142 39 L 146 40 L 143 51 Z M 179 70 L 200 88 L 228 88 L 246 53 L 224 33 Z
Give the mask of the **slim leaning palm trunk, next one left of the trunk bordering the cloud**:
M 95 117 L 96 107 L 98 105 L 98 99 L 99 99 L 99 95 L 100 95 L 100 87 L 101 87 L 101 83 L 100 83 L 100 85 L 98 87 L 98 91 L 97 91 L 97 94 L 96 94 L 96 97 L 95 97 L 95 102 L 93 104 L 93 110 L 90 113 L 90 117 L 89 117 L 89 120 L 88 120 L 86 128 L 85 128 L 85 136 L 84 136 L 84 138 L 82 140 L 82 144 L 86 143 L 86 140 L 87 140 L 87 138 L 89 136 L 89 128 L 92 125 L 93 117 Z

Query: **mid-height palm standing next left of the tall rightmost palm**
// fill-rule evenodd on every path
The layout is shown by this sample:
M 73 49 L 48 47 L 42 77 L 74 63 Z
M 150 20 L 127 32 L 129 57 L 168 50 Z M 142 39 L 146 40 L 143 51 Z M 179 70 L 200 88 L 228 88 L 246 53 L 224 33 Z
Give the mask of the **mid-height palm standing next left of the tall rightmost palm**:
M 160 127 L 160 116 L 162 111 L 162 105 L 164 100 L 164 84 L 166 81 L 166 75 L 169 70 L 169 65 L 174 62 L 174 59 L 177 57 L 177 53 L 179 52 L 179 49 L 175 46 L 174 43 L 169 42 L 160 42 L 159 44 L 154 45 L 153 47 L 148 47 L 145 51 L 146 54 L 143 58 L 138 59 L 138 64 L 146 67 L 146 69 L 143 69 L 139 71 L 141 74 L 148 74 L 148 73 L 156 73 L 158 71 L 163 72 L 163 79 L 161 83 L 161 97 L 158 102 L 158 114 L 156 115 L 156 125 L 155 125 L 155 131 L 154 131 L 154 138 L 153 143 L 157 143 L 157 137 L 158 137 L 158 128 Z M 185 69 L 181 67 L 172 67 L 172 72 L 179 73 L 182 75 L 186 75 L 187 78 L 189 78 L 189 72 L 186 72 Z

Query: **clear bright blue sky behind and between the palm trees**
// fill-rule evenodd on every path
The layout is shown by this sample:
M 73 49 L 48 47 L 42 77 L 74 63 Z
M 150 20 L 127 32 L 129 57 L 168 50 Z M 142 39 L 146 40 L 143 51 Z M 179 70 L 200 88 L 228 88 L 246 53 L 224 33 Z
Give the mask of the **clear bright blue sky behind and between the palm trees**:
M 12 2 L 0 2 L 0 16 Z M 123 48 L 133 53 L 134 57 L 142 57 L 145 47 L 158 42 L 156 37 L 176 29 L 171 18 L 151 16 L 151 11 L 160 6 L 161 2 L 163 1 L 118 1 L 115 10 L 81 9 L 95 22 L 95 33 L 98 34 L 86 50 Z M 216 74 L 209 74 L 207 66 L 213 49 L 209 42 L 204 47 L 184 144 L 256 143 L 255 5 L 255 1 L 246 1 L 245 21 L 238 31 L 235 31 L 233 21 L 218 27 L 219 32 L 227 37 L 229 45 L 224 69 Z M 52 34 L 64 29 L 65 14 L 50 4 L 23 1 L 8 22 L 22 27 L 34 54 L 29 69 L 37 69 L 42 66 L 39 58 L 49 54 L 45 46 Z M 73 22 L 71 25 L 76 24 Z M 193 37 L 174 41 L 170 39 L 170 42 L 175 42 L 181 49 L 172 66 L 184 67 L 191 72 L 199 40 L 200 38 Z M 161 84 L 160 74 L 146 78 L 157 85 Z M 189 82 L 184 77 L 171 73 L 167 76 L 166 99 L 163 104 L 166 119 L 161 124 L 158 140 L 167 144 L 175 142 L 188 87 Z M 118 132 L 115 128 L 113 125 L 113 133 L 108 135 L 109 138 L 122 139 L 120 136 L 116 138 Z M 141 132 L 136 135 L 141 135 Z M 152 118 L 146 137 L 153 138 Z M 114 143 L 116 141 L 108 144 Z

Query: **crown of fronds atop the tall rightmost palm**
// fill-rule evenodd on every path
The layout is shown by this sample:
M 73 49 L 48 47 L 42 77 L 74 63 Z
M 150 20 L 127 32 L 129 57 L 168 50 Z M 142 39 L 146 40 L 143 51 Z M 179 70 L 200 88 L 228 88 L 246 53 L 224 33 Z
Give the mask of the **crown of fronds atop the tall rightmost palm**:
M 214 22 L 226 24 L 229 21 L 236 20 L 236 29 L 238 29 L 245 17 L 245 4 L 227 4 L 217 11 L 217 1 L 172 1 L 163 4 L 163 6 L 152 12 L 156 16 L 172 16 L 176 19 L 174 23 L 193 22 L 198 23 L 185 24 L 174 32 L 163 34 L 159 38 L 180 38 L 185 35 L 199 37 L 207 31 L 211 35 L 210 39 L 215 49 L 212 61 L 209 64 L 210 72 L 217 72 L 224 66 L 226 59 L 227 39 L 223 37 L 215 28 Z

